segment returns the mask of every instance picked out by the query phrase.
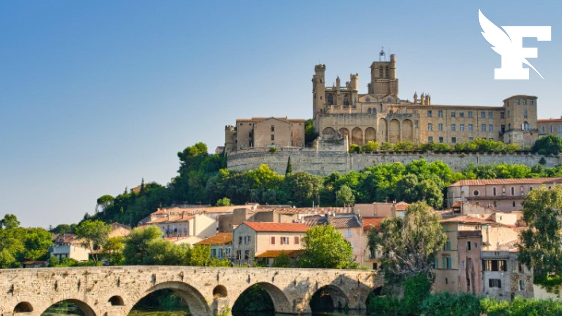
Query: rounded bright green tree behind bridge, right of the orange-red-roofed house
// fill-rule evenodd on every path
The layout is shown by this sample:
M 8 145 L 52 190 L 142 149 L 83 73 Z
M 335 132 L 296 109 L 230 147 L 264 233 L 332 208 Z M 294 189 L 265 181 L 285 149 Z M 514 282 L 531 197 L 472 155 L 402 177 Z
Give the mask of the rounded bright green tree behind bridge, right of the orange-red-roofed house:
M 345 269 L 353 267 L 353 247 L 335 228 L 324 224 L 310 228 L 302 237 L 300 268 Z

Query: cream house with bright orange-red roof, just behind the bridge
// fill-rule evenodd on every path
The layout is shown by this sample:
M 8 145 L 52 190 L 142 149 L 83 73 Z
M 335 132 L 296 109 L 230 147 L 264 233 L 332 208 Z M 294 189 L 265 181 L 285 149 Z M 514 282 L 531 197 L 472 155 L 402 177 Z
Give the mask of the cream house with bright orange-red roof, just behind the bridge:
M 234 263 L 253 265 L 256 258 L 263 258 L 271 265 L 274 258 L 264 258 L 262 254 L 301 249 L 301 238 L 307 229 L 309 227 L 302 223 L 243 222 L 233 231 Z

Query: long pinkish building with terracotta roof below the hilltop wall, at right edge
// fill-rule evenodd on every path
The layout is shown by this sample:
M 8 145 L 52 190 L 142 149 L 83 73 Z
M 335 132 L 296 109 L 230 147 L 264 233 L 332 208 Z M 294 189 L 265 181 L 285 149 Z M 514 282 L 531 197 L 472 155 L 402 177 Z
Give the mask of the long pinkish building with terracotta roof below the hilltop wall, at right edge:
M 447 207 L 458 201 L 491 206 L 502 212 L 519 211 L 533 188 L 561 184 L 562 178 L 460 180 L 447 187 Z

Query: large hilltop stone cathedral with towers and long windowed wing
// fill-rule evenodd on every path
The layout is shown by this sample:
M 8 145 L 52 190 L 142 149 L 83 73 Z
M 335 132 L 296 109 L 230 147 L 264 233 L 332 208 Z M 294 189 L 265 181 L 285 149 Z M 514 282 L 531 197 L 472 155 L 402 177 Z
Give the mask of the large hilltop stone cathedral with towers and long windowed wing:
M 383 55 L 383 52 L 381 52 Z M 439 142 L 454 146 L 477 138 L 530 146 L 538 136 L 537 97 L 517 95 L 501 106 L 433 105 L 431 96 L 398 97 L 396 55 L 371 64 L 368 93 L 359 93 L 359 74 L 341 85 L 325 83 L 325 65 L 312 76 L 314 126 L 322 137 L 339 133 L 350 143 Z

